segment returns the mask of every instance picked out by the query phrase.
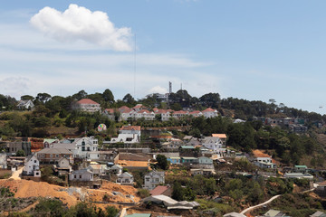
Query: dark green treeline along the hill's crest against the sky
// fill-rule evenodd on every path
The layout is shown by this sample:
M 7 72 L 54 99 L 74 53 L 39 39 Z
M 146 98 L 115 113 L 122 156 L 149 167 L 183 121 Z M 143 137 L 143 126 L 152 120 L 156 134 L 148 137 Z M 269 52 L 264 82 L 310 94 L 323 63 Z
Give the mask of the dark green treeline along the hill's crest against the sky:
M 174 109 L 181 110 L 185 108 L 203 110 L 206 108 L 218 109 L 223 116 L 233 116 L 234 118 L 251 119 L 253 117 L 292 117 L 292 118 L 307 118 L 311 123 L 316 121 L 326 121 L 326 116 L 315 112 L 308 112 L 302 109 L 294 109 L 286 107 L 283 103 L 276 104 L 274 99 L 270 99 L 269 103 L 259 100 L 246 100 L 227 98 L 221 99 L 218 93 L 206 93 L 200 98 L 192 97 L 187 90 L 177 90 L 176 93 L 171 93 L 168 97 L 168 102 L 159 99 L 156 94 L 145 99 L 134 99 L 129 93 L 122 99 L 115 99 L 110 89 L 104 90 L 102 93 L 96 92 L 88 94 L 81 90 L 78 93 L 68 97 L 51 96 L 48 93 L 38 93 L 35 97 L 24 95 L 21 99 L 31 99 L 34 105 L 45 105 L 54 113 L 59 111 L 71 111 L 72 103 L 80 99 L 92 99 L 101 104 L 102 109 L 120 108 L 121 106 L 133 107 L 138 103 L 152 109 Z M 0 94 L 0 109 L 14 109 L 17 100 Z

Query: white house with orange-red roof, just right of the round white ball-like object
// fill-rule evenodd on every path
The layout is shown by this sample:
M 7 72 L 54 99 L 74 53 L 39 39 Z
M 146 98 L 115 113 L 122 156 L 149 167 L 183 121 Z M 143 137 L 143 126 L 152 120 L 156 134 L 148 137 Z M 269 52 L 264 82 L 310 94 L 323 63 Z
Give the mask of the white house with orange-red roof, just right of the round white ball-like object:
M 120 128 L 118 137 L 112 137 L 110 143 L 134 144 L 140 142 L 140 126 L 123 126 Z

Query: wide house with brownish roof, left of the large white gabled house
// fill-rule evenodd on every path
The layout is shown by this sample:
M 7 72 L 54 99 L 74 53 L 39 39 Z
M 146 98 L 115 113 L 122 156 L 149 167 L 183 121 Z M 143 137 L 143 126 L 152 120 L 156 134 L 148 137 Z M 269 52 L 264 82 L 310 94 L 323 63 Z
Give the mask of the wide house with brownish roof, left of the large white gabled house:
M 37 159 L 43 164 L 57 164 L 58 161 L 65 157 L 73 164 L 73 154 L 66 148 L 44 148 L 37 152 Z

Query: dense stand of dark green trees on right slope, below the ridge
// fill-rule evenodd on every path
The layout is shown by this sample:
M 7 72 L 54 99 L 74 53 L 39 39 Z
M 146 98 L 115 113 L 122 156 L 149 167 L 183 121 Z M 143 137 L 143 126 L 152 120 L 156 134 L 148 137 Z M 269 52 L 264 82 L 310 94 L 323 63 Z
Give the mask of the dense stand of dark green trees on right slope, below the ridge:
M 284 164 L 297 165 L 303 156 L 315 156 L 311 164 L 322 166 L 323 146 L 317 142 L 313 131 L 297 135 L 280 127 L 264 126 L 261 121 L 234 123 L 230 118 L 195 118 L 186 134 L 203 137 L 213 133 L 225 133 L 227 146 L 233 146 L 245 152 L 253 149 L 271 150 L 273 157 L 279 157 Z

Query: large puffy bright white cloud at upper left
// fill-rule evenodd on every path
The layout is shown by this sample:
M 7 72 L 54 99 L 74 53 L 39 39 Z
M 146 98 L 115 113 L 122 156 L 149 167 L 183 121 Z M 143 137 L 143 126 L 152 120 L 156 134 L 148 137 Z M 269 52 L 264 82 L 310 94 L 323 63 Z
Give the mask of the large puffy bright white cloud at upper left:
M 59 42 L 82 40 L 101 45 L 110 50 L 131 51 L 131 30 L 116 28 L 108 14 L 78 6 L 69 5 L 63 13 L 51 7 L 44 7 L 34 14 L 30 23 L 45 35 Z

